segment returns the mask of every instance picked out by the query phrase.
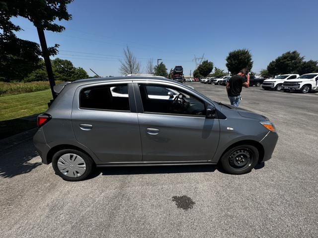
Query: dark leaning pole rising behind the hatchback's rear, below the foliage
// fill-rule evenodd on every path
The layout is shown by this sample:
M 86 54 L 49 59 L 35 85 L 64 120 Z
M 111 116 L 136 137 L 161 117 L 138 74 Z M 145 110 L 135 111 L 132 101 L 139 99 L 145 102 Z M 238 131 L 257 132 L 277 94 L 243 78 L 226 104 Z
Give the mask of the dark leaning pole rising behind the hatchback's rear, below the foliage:
M 48 73 L 52 96 L 53 96 L 53 99 L 55 99 L 56 94 L 55 94 L 54 89 L 53 89 L 53 87 L 55 86 L 55 81 L 54 81 L 54 75 L 53 75 L 52 65 L 51 65 L 51 61 L 50 61 L 50 55 L 48 52 L 48 47 L 46 45 L 44 31 L 42 28 L 39 28 L 39 27 L 37 27 L 36 29 L 38 30 L 38 35 L 39 35 L 41 49 L 42 49 L 42 56 L 44 58 L 46 71 Z

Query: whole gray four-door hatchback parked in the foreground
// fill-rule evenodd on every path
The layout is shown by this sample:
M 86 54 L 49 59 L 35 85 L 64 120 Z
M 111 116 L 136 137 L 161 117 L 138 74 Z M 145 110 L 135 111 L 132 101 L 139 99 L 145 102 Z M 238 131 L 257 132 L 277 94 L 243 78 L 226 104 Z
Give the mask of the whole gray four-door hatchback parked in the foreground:
M 111 166 L 220 164 L 244 174 L 271 158 L 278 139 L 266 117 L 163 77 L 81 79 L 55 91 L 34 144 L 69 181 Z

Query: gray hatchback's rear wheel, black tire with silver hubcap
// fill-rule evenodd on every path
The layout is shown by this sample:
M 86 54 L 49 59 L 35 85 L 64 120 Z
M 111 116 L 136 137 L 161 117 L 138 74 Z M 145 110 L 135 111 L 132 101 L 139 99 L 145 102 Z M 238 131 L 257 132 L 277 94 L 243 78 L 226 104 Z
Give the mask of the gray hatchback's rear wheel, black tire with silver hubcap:
M 52 166 L 55 173 L 62 179 L 67 181 L 81 181 L 91 174 L 94 168 L 94 162 L 88 155 L 81 151 L 64 149 L 54 154 Z

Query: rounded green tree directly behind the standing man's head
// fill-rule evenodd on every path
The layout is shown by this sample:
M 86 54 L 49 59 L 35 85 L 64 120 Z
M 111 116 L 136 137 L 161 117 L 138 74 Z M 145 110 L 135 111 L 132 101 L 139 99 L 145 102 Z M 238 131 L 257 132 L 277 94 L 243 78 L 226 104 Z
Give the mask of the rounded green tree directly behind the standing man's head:
M 251 70 L 253 67 L 252 56 L 246 49 L 231 51 L 226 60 L 226 66 L 232 74 L 239 73 L 239 70 L 243 68 Z

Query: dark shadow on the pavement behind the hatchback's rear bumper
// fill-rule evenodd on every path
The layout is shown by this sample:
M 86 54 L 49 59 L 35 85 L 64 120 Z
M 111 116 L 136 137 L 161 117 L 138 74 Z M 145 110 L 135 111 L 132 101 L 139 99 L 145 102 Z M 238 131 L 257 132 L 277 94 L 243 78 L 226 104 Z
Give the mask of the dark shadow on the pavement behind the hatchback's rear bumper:
M 12 150 L 12 148 L 10 148 L 1 151 L 0 177 L 13 178 L 17 175 L 26 174 L 42 164 L 41 162 L 30 162 L 30 160 L 39 154 L 31 140 L 25 143 L 26 146 L 23 149 L 16 148 Z

